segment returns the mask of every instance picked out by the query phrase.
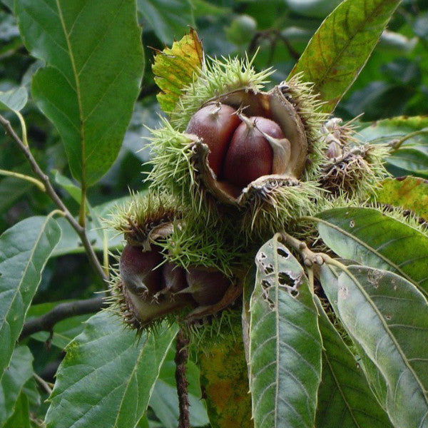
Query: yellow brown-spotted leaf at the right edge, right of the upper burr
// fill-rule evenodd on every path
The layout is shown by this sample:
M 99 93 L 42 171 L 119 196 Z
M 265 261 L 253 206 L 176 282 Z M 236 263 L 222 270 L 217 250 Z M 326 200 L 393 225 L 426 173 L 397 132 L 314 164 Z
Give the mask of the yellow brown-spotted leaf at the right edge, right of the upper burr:
M 378 203 L 412 210 L 428 220 L 428 181 L 418 177 L 387 178 L 376 192 Z

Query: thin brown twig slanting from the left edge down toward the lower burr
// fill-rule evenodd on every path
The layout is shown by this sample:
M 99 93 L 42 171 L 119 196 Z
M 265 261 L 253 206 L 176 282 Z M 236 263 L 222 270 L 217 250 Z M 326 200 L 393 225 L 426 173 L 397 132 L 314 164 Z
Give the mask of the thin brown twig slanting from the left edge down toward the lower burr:
M 16 132 L 11 127 L 11 123 L 7 121 L 3 116 L 0 115 L 0 125 L 3 126 L 4 130 L 6 131 L 6 134 L 9 135 L 12 140 L 16 143 L 16 145 L 19 147 L 22 153 L 24 153 L 24 156 L 26 157 L 26 160 L 29 161 L 29 164 L 31 165 L 31 169 L 33 170 L 34 174 L 40 178 L 41 183 L 44 184 L 45 187 L 45 193 L 49 195 L 51 200 L 54 201 L 56 206 L 63 211 L 64 217 L 68 220 L 68 223 L 71 224 L 71 227 L 76 230 L 76 233 L 78 234 L 79 238 L 81 238 L 83 248 L 86 250 L 86 254 L 88 255 L 89 263 L 91 263 L 93 270 L 98 274 L 99 277 L 103 281 L 108 280 L 108 276 L 103 270 L 103 267 L 101 266 L 101 263 L 99 262 L 98 258 L 96 257 L 95 252 L 93 251 L 92 245 L 88 240 L 88 236 L 86 235 L 86 229 L 76 222 L 73 215 L 71 215 L 70 211 L 64 205 L 61 198 L 59 198 L 58 194 L 54 190 L 54 188 L 51 185 L 51 181 L 49 180 L 49 177 L 44 173 L 43 170 L 41 170 L 39 164 L 36 162 L 36 159 L 34 159 L 34 156 L 32 155 L 29 146 L 26 146 L 23 141 L 21 141 L 21 138 L 16 135 Z M 83 222 L 84 223 L 84 222 Z

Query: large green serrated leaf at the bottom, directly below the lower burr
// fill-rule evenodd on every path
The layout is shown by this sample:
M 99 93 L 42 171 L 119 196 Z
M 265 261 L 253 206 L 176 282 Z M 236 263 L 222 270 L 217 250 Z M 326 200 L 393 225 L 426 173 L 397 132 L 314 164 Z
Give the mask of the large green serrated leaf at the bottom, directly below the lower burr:
M 134 427 L 176 332 L 160 327 L 138 340 L 108 312 L 91 317 L 58 368 L 47 427 Z

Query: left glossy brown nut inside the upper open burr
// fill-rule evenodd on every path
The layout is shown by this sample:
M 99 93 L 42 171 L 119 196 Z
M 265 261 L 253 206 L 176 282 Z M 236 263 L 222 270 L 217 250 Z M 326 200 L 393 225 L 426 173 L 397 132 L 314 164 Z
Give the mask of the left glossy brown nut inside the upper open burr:
M 230 138 L 240 124 L 240 118 L 235 113 L 235 108 L 226 104 L 208 104 L 190 118 L 185 130 L 202 138 L 208 146 L 208 165 L 217 176 L 221 173 Z

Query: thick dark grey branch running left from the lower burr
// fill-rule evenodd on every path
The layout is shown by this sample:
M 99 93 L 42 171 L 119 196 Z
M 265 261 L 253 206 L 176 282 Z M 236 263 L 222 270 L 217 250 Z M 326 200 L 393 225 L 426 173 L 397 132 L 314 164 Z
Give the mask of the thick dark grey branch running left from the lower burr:
M 33 318 L 24 323 L 19 340 L 33 335 L 36 332 L 51 332 L 57 322 L 76 315 L 86 315 L 98 312 L 105 307 L 104 297 L 94 297 L 93 299 L 76 300 L 76 302 L 60 303 L 41 317 Z

